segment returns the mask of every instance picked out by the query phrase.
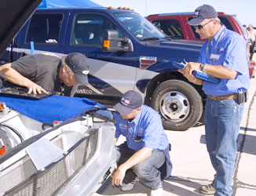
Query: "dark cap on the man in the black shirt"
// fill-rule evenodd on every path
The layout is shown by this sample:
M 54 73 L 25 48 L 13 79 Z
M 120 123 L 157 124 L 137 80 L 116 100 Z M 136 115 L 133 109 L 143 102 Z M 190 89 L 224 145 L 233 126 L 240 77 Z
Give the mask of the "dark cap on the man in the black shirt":
M 89 66 L 86 56 L 82 53 L 69 53 L 65 59 L 65 63 L 74 72 L 76 82 L 80 85 L 88 85 L 87 74 L 89 74 Z

